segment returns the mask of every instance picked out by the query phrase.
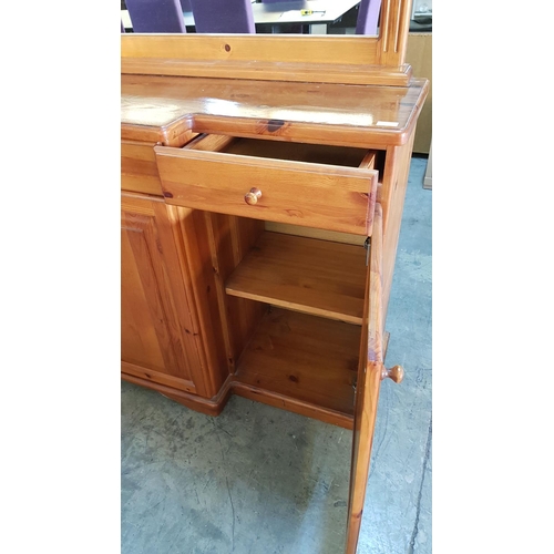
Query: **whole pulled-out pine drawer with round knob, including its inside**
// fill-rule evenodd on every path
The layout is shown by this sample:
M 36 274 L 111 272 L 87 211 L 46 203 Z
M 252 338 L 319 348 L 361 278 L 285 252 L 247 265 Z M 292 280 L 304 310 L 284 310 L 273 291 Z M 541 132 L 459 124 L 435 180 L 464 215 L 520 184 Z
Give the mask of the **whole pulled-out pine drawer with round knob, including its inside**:
M 168 204 L 371 235 L 376 152 L 220 135 L 154 151 Z

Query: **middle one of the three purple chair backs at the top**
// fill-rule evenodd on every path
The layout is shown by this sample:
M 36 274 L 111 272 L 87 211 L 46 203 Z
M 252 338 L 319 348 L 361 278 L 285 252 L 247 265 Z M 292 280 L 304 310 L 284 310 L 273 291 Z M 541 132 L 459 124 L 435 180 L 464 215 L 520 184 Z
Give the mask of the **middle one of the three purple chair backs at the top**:
M 255 33 L 250 0 L 189 0 L 197 33 Z

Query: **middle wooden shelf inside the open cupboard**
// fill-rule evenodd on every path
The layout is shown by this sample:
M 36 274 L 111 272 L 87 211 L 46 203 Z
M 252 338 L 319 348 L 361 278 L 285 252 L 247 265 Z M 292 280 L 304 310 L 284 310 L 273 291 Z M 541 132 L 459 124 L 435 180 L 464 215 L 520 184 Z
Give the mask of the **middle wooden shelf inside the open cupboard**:
M 225 285 L 228 295 L 361 325 L 362 246 L 265 232 Z

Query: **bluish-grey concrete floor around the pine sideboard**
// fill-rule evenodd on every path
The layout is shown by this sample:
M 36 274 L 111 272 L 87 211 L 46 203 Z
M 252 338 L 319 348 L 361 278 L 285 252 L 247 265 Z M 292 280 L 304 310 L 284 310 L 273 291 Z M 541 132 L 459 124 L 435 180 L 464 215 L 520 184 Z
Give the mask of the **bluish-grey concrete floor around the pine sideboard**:
M 431 553 L 431 191 L 413 157 L 358 554 Z M 218 418 L 122 382 L 122 554 L 341 554 L 351 432 L 232 397 Z

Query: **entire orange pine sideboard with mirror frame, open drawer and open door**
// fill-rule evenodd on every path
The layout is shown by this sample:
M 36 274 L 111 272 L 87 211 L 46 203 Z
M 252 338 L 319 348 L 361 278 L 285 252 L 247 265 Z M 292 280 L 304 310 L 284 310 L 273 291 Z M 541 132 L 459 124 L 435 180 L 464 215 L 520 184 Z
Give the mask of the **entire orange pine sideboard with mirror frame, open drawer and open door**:
M 371 39 L 122 37 L 123 377 L 352 430 L 346 554 L 403 375 L 384 325 L 428 93 L 407 10 L 383 0 Z

